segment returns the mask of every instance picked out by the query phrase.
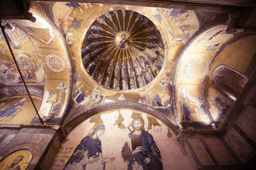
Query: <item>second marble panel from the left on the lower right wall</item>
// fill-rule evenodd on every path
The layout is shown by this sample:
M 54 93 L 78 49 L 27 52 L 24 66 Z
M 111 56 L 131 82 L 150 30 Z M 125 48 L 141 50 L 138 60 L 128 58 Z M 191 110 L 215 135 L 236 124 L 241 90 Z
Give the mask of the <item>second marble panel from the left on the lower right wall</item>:
M 206 144 L 220 165 L 235 165 L 234 159 L 216 137 L 205 138 Z

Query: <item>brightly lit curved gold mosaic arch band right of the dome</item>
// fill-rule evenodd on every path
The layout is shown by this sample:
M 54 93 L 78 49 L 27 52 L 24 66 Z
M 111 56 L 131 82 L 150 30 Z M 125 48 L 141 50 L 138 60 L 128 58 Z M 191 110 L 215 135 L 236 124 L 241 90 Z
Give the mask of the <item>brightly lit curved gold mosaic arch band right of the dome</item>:
M 174 84 L 176 113 L 183 126 L 213 125 L 215 128 L 214 123 L 218 119 L 213 118 L 213 113 L 208 110 L 208 94 L 205 93 L 208 89 L 205 89 L 205 84 L 213 56 L 238 33 L 227 32 L 226 28 L 225 25 L 218 25 L 206 29 L 181 52 Z

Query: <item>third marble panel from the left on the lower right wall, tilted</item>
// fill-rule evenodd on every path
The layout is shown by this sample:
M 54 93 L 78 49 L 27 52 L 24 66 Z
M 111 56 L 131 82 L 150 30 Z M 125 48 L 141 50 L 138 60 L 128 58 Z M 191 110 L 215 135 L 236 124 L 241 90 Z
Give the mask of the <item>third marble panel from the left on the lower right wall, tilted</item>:
M 252 157 L 255 157 L 255 150 L 245 142 L 234 128 L 230 128 L 223 138 L 243 164 L 246 164 Z

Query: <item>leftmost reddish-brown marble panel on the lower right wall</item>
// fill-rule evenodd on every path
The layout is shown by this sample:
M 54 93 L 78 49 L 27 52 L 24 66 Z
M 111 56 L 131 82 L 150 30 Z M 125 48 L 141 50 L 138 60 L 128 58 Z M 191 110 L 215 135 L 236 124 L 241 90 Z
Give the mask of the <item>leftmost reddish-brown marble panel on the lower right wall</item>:
M 214 165 L 199 139 L 188 139 L 201 165 Z

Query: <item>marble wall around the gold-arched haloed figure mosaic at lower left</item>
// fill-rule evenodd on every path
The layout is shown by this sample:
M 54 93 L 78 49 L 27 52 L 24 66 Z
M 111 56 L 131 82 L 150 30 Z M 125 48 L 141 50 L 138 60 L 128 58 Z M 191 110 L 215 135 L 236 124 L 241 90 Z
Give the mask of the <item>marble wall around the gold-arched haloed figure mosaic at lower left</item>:
M 58 136 L 56 130 L 41 128 L 1 130 L 1 134 L 1 169 L 11 166 L 17 155 L 23 156 L 19 162 L 23 169 L 37 169 L 38 164 L 46 157 L 46 152 L 53 143 L 51 141 Z

